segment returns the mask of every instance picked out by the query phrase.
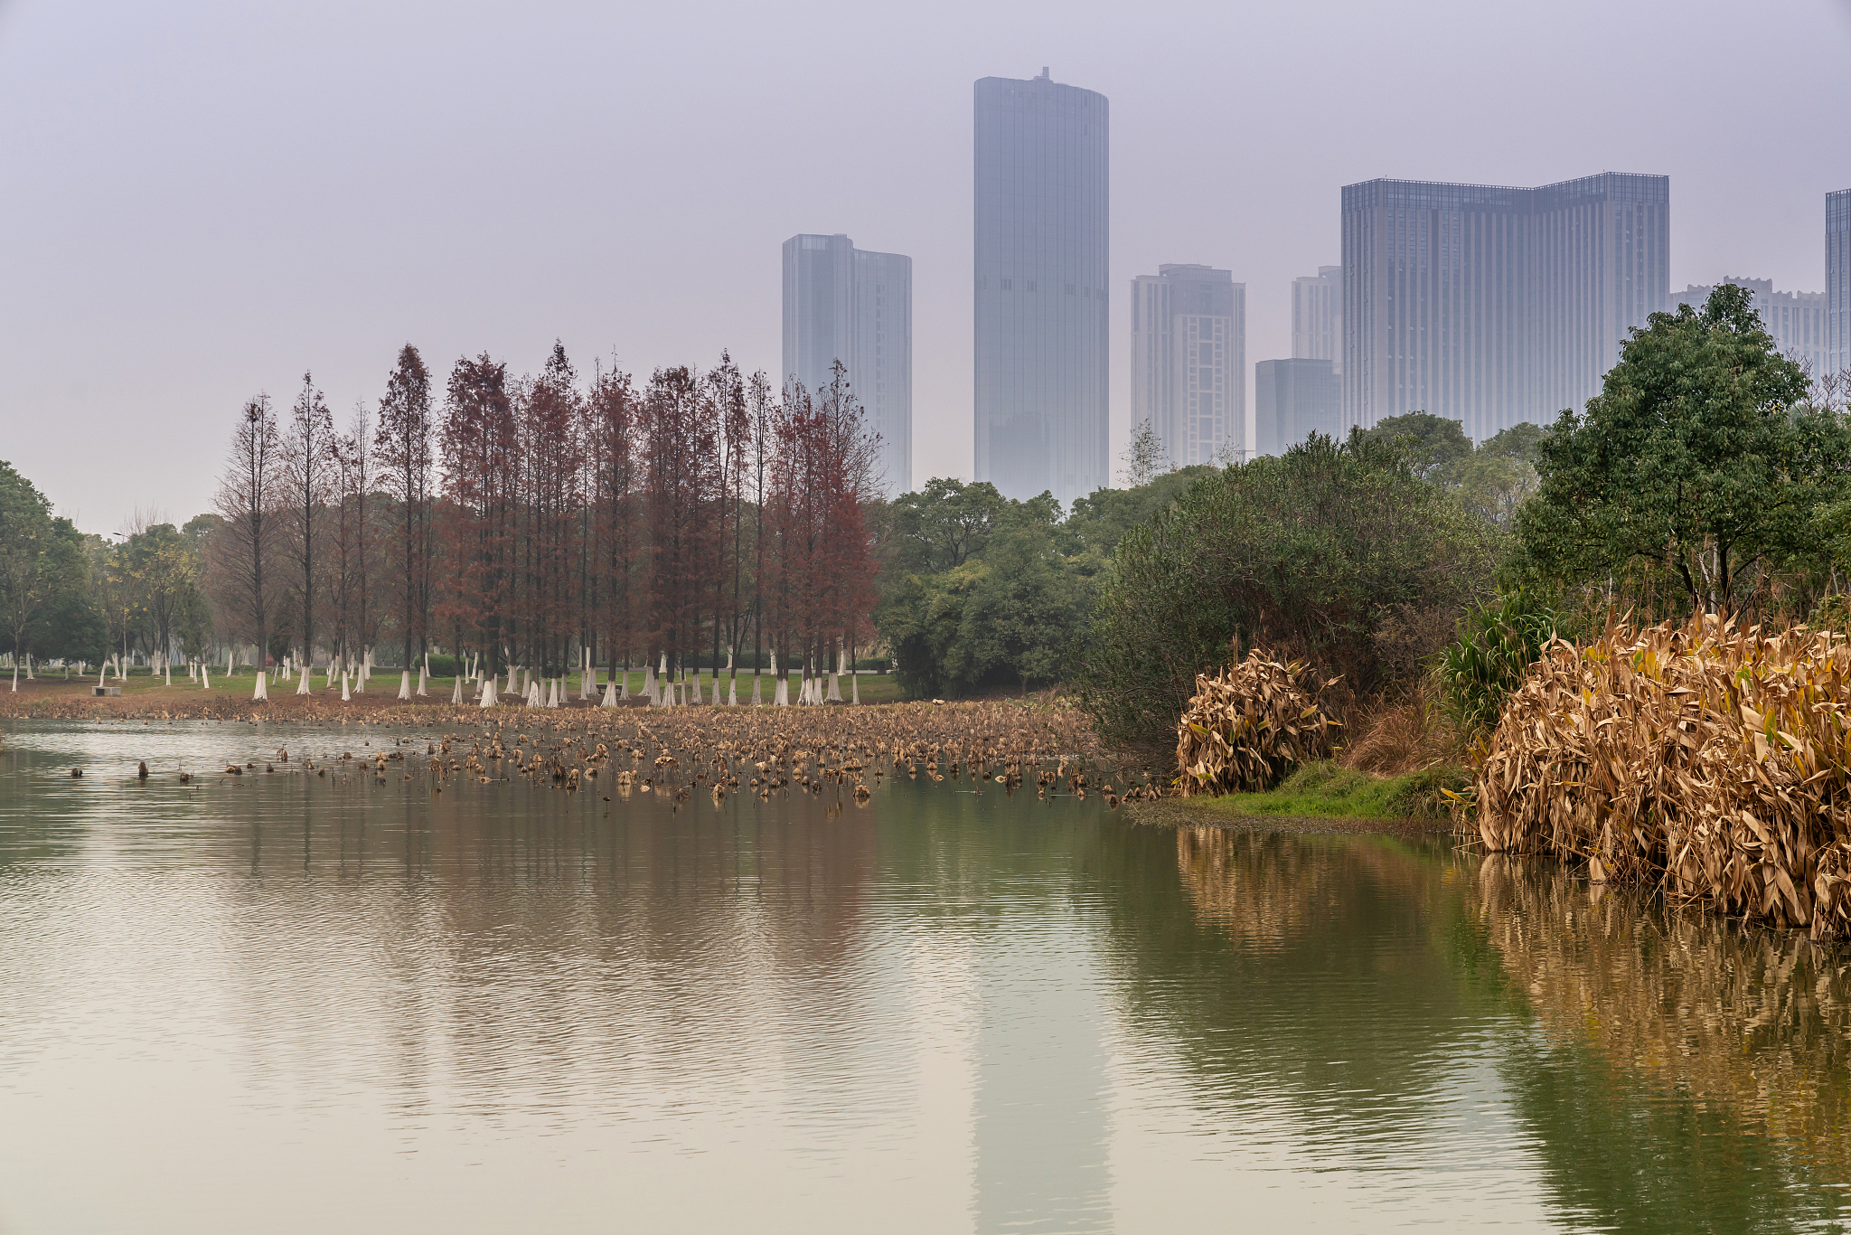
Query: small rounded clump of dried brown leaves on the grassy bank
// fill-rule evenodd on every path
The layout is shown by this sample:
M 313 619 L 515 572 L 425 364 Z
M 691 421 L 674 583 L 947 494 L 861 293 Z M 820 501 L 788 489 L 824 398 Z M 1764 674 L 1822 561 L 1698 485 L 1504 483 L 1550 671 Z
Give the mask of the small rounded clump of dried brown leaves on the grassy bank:
M 1294 765 L 1331 754 L 1338 722 L 1320 704 L 1331 685 L 1305 661 L 1279 663 L 1257 648 L 1214 678 L 1196 674 L 1175 726 L 1183 796 L 1272 789 Z

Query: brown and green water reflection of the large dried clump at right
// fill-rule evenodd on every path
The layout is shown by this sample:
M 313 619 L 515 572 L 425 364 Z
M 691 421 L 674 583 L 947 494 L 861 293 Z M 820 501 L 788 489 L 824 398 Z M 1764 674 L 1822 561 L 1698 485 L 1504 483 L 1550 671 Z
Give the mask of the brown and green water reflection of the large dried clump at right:
M 1475 885 L 1473 915 L 1542 1031 L 1507 1072 L 1564 1207 L 1629 1229 L 1681 1229 L 1697 1204 L 1740 1229 L 1836 1226 L 1851 1185 L 1842 952 L 1520 859 L 1486 859 Z

